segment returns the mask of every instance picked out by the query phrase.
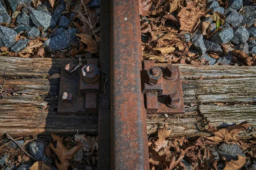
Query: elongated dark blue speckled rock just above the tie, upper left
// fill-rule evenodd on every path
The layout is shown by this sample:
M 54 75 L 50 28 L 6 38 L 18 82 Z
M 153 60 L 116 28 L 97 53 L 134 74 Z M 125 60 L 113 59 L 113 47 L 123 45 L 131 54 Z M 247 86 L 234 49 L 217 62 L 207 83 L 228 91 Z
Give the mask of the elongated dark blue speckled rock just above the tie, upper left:
M 44 46 L 49 52 L 66 49 L 70 47 L 70 43 L 76 41 L 76 29 L 70 28 L 60 35 L 49 38 L 44 42 Z

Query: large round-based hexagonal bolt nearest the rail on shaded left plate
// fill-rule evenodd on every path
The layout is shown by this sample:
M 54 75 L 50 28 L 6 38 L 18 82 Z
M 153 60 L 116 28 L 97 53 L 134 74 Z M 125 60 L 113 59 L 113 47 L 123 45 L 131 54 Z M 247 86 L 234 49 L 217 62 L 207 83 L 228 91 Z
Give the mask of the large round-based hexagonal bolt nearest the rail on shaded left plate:
M 96 83 L 99 80 L 99 71 L 97 66 L 87 64 L 82 68 L 83 80 L 88 84 Z

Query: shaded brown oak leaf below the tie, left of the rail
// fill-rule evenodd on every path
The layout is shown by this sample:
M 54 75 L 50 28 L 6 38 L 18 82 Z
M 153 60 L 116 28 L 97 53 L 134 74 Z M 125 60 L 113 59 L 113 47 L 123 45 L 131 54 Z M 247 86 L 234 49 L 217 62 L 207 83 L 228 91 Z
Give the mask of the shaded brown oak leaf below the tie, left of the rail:
M 62 143 L 64 137 L 59 137 L 54 134 L 52 134 L 51 136 L 53 138 L 53 142 L 50 143 L 50 147 L 58 156 L 59 161 L 61 161 L 61 163 L 58 163 L 58 161 L 55 160 L 58 170 L 67 170 L 67 168 L 70 166 L 69 160 L 72 159 L 75 153 L 82 147 L 82 144 L 79 144 L 72 149 L 67 150 L 67 148 Z M 55 142 L 57 142 L 56 146 L 53 144 Z

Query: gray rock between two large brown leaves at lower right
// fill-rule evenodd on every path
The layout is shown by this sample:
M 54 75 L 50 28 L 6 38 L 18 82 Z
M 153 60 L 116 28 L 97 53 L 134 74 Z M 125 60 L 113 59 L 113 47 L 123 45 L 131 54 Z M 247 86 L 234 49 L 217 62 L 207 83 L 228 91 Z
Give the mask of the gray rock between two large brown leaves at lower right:
M 222 157 L 226 158 L 227 161 L 230 161 L 231 159 L 238 160 L 237 154 L 245 156 L 243 150 L 241 150 L 237 144 L 229 145 L 223 143 L 218 146 L 217 151 Z

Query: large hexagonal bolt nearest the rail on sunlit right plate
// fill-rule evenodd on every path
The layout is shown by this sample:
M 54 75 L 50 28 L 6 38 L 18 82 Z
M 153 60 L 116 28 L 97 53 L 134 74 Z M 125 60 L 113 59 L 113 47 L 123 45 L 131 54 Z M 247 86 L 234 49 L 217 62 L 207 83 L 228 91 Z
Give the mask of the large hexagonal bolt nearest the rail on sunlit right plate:
M 157 66 L 152 66 L 147 70 L 147 74 L 145 74 L 146 81 L 150 85 L 158 84 L 163 76 L 162 70 Z

